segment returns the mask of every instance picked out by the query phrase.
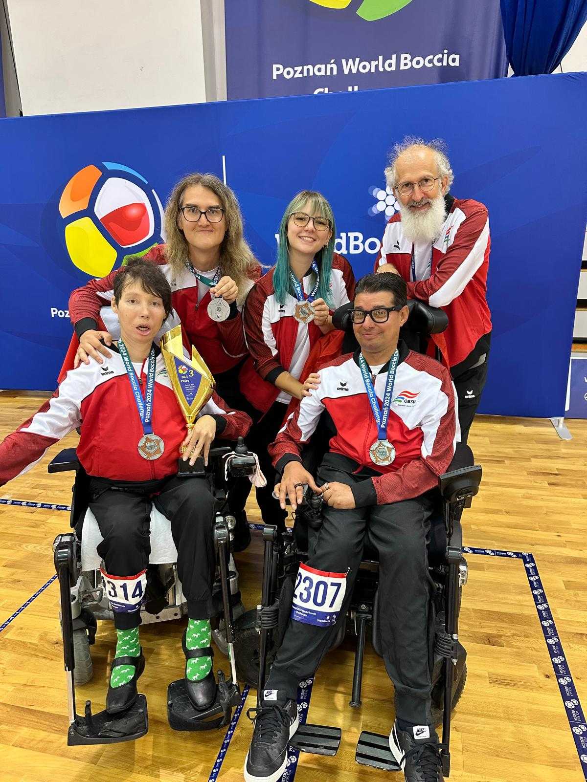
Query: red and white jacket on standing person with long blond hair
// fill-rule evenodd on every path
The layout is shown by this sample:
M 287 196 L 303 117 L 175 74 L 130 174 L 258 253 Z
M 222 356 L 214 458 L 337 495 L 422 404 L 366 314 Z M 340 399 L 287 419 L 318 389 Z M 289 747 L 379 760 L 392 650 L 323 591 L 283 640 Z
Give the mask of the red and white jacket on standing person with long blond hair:
M 243 319 L 236 308 L 231 307 L 231 317 L 218 323 L 211 320 L 207 314 L 207 306 L 211 301 L 208 290 L 203 299 L 198 303 L 198 280 L 189 269 L 185 268 L 180 274 L 174 274 L 165 258 L 165 245 L 157 245 L 150 249 L 144 256 L 146 260 L 153 260 L 161 267 L 167 281 L 171 285 L 171 302 L 175 310 L 164 323 L 163 332 L 173 325 L 181 322 L 187 336 L 186 347 L 194 345 L 206 362 L 212 375 L 228 371 L 243 360 L 248 353 L 243 335 Z M 83 331 L 87 328 L 96 328 L 99 318 L 106 329 L 110 326 L 107 318 L 107 310 L 100 310 L 104 305 L 110 304 L 113 296 L 113 284 L 118 270 L 111 271 L 107 277 L 100 280 L 90 280 L 83 288 L 77 288 L 70 296 L 70 317 L 76 326 L 79 335 L 79 327 Z M 257 267 L 251 277 L 251 285 L 261 276 L 261 267 Z M 81 323 L 85 318 L 90 320 Z M 117 319 L 112 318 L 113 321 Z M 163 333 L 162 332 L 162 333 Z

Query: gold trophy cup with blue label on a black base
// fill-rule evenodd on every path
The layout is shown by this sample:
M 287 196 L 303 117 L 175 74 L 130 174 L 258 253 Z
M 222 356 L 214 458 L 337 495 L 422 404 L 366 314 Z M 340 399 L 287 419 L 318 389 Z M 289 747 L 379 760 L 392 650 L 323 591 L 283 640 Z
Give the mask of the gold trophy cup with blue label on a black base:
M 181 326 L 175 326 L 166 332 L 161 337 L 160 346 L 171 388 L 178 400 L 189 434 L 197 414 L 212 396 L 216 383 L 195 347 L 192 346 L 191 360 L 185 357 Z M 185 454 L 185 446 L 180 447 L 179 453 Z M 196 459 L 196 463 L 190 465 L 189 461 L 183 461 L 180 457 L 178 475 L 180 477 L 201 475 L 203 468 L 198 464 L 199 461 L 200 459 Z

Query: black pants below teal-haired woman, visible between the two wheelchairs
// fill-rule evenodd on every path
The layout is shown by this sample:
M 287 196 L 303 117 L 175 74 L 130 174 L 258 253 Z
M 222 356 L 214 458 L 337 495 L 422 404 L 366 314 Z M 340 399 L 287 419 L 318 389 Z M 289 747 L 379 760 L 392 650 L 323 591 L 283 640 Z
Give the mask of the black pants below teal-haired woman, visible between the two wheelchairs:
M 258 420 L 260 413 L 255 411 L 255 417 L 253 418 L 255 422 L 247 437 L 247 444 L 250 450 L 254 451 L 259 457 L 259 466 L 267 479 L 267 486 L 255 487 L 261 518 L 265 524 L 275 524 L 282 530 L 285 529 L 287 513 L 279 508 L 279 501 L 272 496 L 277 479 L 271 457 L 268 454 L 268 447 L 269 443 L 272 443 L 275 439 L 279 429 L 281 429 L 286 410 L 286 404 L 274 402 L 269 407 L 268 412 L 261 418 L 261 421 Z M 238 505 L 244 508 L 251 486 L 252 484 L 248 478 L 235 483 L 229 495 L 229 507 L 231 510 L 233 506 L 236 508 Z

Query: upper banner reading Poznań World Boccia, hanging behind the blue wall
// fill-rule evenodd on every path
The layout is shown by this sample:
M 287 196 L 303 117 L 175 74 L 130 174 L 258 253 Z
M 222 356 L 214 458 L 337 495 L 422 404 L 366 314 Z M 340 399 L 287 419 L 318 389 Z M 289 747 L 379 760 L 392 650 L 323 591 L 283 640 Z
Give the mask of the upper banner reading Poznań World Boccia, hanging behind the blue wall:
M 507 74 L 499 0 L 225 0 L 229 99 Z

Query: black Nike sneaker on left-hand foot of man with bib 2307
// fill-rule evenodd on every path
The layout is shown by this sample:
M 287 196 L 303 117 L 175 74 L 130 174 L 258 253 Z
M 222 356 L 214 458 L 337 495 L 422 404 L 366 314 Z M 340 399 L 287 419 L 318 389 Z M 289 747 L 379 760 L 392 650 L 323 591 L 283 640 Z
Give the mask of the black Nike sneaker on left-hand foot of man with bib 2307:
M 245 782 L 277 782 L 286 768 L 287 747 L 299 724 L 296 701 L 263 701 L 261 708 L 250 708 L 247 717 L 254 720 L 254 730 L 245 759 Z

